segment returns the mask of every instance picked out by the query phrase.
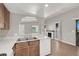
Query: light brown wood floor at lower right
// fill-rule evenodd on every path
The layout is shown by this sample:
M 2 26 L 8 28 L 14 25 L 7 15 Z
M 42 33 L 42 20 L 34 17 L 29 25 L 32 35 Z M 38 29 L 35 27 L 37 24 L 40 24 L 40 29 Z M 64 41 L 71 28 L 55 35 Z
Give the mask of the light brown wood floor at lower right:
M 52 40 L 50 56 L 79 56 L 79 47 Z

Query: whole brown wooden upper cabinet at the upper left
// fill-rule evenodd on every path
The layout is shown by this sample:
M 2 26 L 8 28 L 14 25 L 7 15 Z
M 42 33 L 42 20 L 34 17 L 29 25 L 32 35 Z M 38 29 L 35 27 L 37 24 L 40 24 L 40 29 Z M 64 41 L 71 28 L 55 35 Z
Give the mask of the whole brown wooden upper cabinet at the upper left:
M 0 29 L 9 29 L 10 12 L 4 4 L 0 3 Z

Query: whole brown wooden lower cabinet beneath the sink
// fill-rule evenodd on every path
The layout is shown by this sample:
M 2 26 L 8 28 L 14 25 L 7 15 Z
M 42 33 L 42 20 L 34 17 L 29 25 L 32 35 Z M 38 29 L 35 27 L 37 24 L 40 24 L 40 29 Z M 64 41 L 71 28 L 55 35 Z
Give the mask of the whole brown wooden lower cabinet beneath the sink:
M 13 51 L 15 56 L 39 56 L 39 40 L 16 43 Z

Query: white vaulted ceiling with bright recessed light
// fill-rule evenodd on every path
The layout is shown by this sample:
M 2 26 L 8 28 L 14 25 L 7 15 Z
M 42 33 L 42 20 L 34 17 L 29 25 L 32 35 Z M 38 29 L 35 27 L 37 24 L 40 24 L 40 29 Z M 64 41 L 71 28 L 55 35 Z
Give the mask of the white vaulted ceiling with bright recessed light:
M 48 18 L 78 7 L 78 3 L 5 3 L 11 13 Z

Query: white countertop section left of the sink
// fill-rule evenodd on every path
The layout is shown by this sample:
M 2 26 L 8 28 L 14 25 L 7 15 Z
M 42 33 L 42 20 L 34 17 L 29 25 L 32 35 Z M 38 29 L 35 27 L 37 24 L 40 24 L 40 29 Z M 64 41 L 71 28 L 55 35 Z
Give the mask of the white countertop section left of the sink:
M 16 41 L 17 41 L 16 37 L 1 39 L 0 40 L 0 54 L 6 53 L 7 56 L 12 56 L 13 55 L 12 47 L 14 46 Z

